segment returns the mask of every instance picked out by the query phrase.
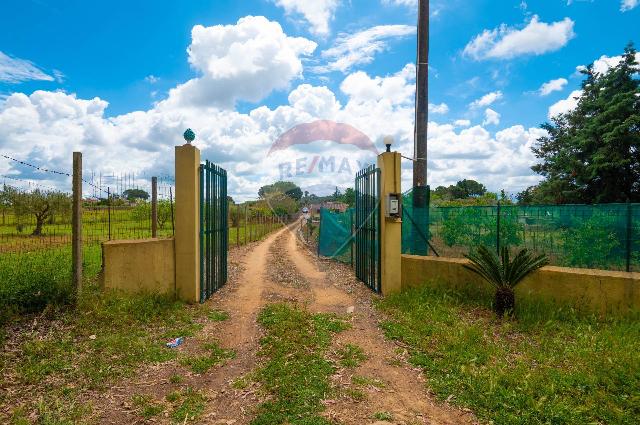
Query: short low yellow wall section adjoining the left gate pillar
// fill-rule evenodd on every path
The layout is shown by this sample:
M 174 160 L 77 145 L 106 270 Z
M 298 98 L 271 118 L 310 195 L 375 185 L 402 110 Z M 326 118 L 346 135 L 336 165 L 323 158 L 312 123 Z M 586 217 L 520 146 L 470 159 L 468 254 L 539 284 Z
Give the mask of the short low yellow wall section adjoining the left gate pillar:
M 173 239 L 109 241 L 102 256 L 105 289 L 175 295 Z

